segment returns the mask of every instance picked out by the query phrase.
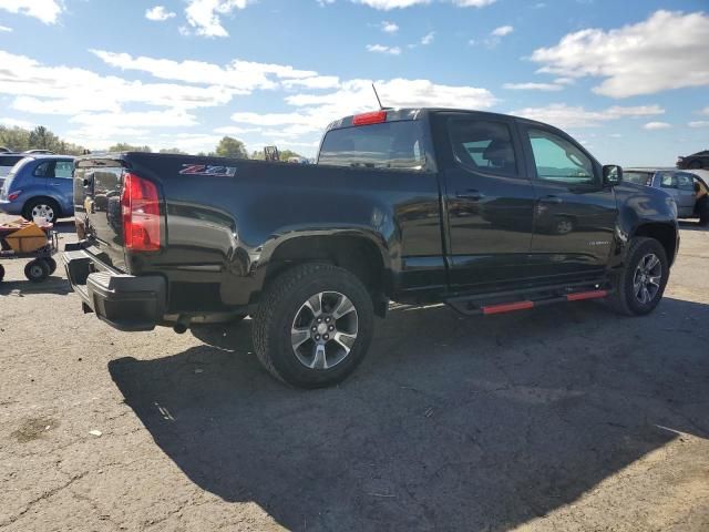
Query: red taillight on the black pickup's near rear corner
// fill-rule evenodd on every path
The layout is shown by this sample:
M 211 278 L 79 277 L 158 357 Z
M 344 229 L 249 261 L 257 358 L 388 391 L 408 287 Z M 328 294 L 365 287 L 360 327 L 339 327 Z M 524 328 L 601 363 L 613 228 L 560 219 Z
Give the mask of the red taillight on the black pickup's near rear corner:
M 157 187 L 135 174 L 123 176 L 121 196 L 123 244 L 133 252 L 160 249 L 160 196 Z

